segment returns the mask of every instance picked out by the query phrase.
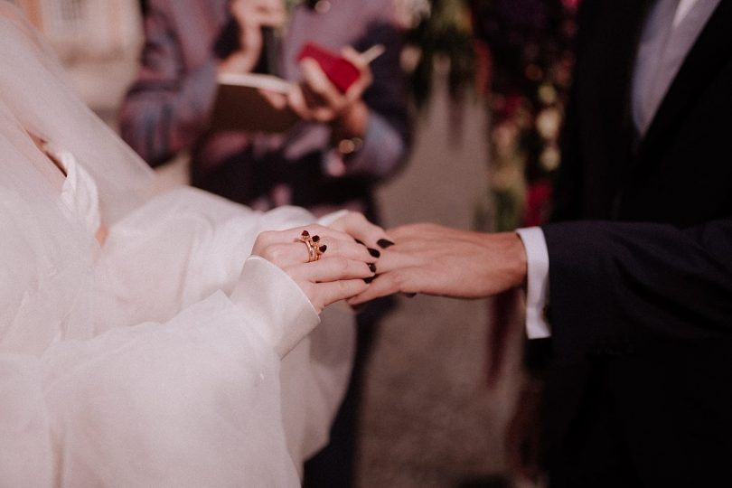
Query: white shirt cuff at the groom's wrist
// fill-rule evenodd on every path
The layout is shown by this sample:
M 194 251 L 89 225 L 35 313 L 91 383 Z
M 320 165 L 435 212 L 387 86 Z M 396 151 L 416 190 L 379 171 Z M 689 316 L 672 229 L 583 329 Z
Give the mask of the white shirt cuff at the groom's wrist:
M 529 339 L 551 336 L 544 314 L 549 298 L 549 251 L 544 232 L 539 227 L 517 229 L 528 264 L 526 286 L 526 335 Z

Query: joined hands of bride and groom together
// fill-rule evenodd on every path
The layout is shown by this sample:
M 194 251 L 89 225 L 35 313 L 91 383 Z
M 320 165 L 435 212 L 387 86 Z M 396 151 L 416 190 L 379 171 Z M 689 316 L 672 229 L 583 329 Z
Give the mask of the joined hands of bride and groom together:
M 307 249 L 296 241 L 302 230 L 318 235 L 318 244 L 326 246 L 323 258 L 306 262 Z M 360 305 L 399 292 L 493 296 L 521 286 L 527 268 L 515 232 L 486 234 L 430 223 L 385 232 L 356 212 L 330 227 L 264 232 L 253 253 L 282 267 L 318 312 L 343 299 Z

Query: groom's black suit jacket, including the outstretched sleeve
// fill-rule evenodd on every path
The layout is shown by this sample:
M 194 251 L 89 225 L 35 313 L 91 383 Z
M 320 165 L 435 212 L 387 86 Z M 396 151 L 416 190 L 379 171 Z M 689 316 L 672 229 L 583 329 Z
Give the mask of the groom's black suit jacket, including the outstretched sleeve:
M 663 1 L 663 0 L 662 0 Z M 712 486 L 732 459 L 732 1 L 645 136 L 648 2 L 585 0 L 549 249 L 552 486 Z

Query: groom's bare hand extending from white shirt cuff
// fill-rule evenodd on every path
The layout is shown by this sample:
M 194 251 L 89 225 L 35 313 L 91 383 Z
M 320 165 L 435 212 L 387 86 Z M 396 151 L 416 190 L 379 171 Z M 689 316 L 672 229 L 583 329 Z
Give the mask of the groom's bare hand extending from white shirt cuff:
M 526 251 L 514 232 L 486 234 L 436 224 L 389 230 L 395 244 L 379 259 L 378 276 L 349 300 L 358 305 L 393 293 L 480 298 L 526 278 Z

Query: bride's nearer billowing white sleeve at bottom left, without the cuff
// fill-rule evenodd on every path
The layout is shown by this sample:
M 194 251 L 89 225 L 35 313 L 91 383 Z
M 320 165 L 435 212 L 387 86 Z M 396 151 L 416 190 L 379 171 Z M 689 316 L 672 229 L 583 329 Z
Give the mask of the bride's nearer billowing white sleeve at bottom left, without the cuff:
M 166 324 L 62 341 L 40 358 L 0 354 L 0 479 L 296 486 L 279 359 L 258 330 L 312 312 L 303 300 L 283 305 L 249 314 L 219 292 Z

